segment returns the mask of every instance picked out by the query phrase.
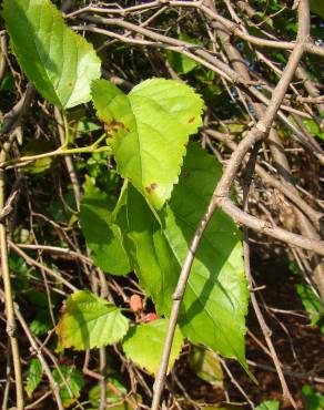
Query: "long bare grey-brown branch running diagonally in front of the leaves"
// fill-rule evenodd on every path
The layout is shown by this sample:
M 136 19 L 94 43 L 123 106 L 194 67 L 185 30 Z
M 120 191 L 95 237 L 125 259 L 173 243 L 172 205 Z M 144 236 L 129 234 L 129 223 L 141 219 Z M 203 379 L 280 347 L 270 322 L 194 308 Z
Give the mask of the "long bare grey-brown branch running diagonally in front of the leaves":
M 210 222 L 214 211 L 217 207 L 223 207 L 224 203 L 229 201 L 230 189 L 233 184 L 233 181 L 240 170 L 242 161 L 244 156 L 253 147 L 257 142 L 265 139 L 269 134 L 269 131 L 272 126 L 274 117 L 276 115 L 277 110 L 285 96 L 286 90 L 290 85 L 290 82 L 295 73 L 295 70 L 298 66 L 298 63 L 303 57 L 305 51 L 305 44 L 308 42 L 310 35 L 310 6 L 308 0 L 301 0 L 298 4 L 298 33 L 295 47 L 292 51 L 292 54 L 288 59 L 287 65 L 283 72 L 281 80 L 279 81 L 270 105 L 267 106 L 263 119 L 261 119 L 256 125 L 250 131 L 247 136 L 242 140 L 242 142 L 237 145 L 237 150 L 232 154 L 226 168 L 224 170 L 223 176 L 214 192 L 213 198 L 207 207 L 205 215 L 203 216 L 200 225 L 195 232 L 195 235 L 192 239 L 189 253 L 184 260 L 179 281 L 175 288 L 175 293 L 173 296 L 173 305 L 169 320 L 169 328 L 166 338 L 164 341 L 163 353 L 160 362 L 160 369 L 155 378 L 154 383 L 154 396 L 152 401 L 152 410 L 158 410 L 161 399 L 161 393 L 163 390 L 165 377 L 166 377 L 166 369 L 170 358 L 170 351 L 172 347 L 173 336 L 175 331 L 175 326 L 178 321 L 178 316 L 181 307 L 181 303 L 183 299 L 183 295 L 185 291 L 185 286 L 188 283 L 189 274 L 193 264 L 194 255 L 198 249 L 198 246 L 202 239 L 202 235 L 204 229 L 206 228 L 207 223 Z M 323 249 L 324 252 L 324 249 Z

